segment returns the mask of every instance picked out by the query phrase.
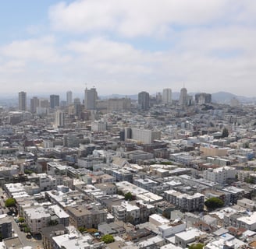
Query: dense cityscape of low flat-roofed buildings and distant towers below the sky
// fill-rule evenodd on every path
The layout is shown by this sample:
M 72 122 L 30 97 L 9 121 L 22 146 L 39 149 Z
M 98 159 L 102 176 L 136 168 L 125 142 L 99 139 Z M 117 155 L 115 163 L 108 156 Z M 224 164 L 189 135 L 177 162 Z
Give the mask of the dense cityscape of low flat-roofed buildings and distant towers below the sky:
M 256 107 L 172 89 L 0 109 L 3 248 L 256 247 Z

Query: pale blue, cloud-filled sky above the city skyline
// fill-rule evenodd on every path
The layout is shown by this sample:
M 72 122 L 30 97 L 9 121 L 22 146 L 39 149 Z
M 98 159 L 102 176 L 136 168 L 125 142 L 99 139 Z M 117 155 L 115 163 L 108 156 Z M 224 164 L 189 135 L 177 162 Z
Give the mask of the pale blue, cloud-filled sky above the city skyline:
M 256 96 L 255 0 L 8 0 L 0 95 Z

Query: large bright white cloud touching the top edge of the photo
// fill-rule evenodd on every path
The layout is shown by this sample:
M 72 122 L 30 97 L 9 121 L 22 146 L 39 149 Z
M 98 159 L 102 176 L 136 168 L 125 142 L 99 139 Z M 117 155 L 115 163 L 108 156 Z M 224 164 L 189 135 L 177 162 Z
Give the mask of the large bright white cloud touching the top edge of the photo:
M 205 25 L 226 16 L 230 0 L 80 0 L 49 10 L 56 30 L 87 33 L 110 30 L 125 37 L 151 36 L 169 25 Z

